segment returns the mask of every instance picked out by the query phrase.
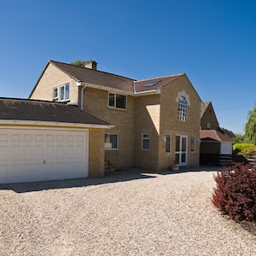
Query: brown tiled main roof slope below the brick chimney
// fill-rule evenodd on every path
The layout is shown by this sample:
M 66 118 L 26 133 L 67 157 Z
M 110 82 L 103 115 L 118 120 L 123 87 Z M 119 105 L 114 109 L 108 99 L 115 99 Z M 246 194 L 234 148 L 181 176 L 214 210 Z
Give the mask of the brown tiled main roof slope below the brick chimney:
M 112 73 L 106 73 L 87 67 L 78 67 L 58 61 L 49 61 L 49 63 L 52 63 L 55 67 L 59 67 L 64 73 L 67 73 L 79 82 L 102 85 L 119 90 L 133 90 L 134 79 L 128 79 Z

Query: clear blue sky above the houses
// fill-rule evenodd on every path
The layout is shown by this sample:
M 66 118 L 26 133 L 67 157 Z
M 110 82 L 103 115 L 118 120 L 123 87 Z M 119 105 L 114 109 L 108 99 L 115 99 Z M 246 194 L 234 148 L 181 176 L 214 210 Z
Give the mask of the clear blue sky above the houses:
M 0 0 L 0 96 L 26 98 L 47 61 L 96 60 L 132 79 L 187 73 L 219 125 L 256 102 L 256 2 Z

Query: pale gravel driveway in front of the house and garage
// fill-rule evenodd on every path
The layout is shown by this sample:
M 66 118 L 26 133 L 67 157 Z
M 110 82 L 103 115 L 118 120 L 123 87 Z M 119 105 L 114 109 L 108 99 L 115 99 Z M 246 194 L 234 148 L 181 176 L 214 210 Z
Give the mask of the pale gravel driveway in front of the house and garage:
M 214 171 L 0 185 L 0 255 L 256 255 L 212 207 Z

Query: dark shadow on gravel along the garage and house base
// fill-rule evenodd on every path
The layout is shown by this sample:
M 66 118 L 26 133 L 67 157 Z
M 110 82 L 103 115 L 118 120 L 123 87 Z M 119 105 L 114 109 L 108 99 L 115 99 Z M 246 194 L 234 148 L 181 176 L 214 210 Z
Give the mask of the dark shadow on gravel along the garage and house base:
M 179 171 L 166 171 L 166 172 L 147 172 L 141 169 L 133 168 L 126 171 L 113 171 L 105 172 L 104 177 L 87 177 L 87 178 L 75 178 L 56 181 L 44 181 L 44 182 L 31 182 L 31 183 L 9 183 L 0 184 L 0 189 L 11 189 L 16 193 L 25 193 L 32 191 L 40 191 L 47 189 L 67 189 L 84 187 L 90 185 L 99 185 L 104 183 L 117 183 L 126 182 L 136 179 L 153 178 L 159 175 L 170 175 L 181 172 L 213 172 L 220 171 L 220 167 L 197 167 L 197 168 L 183 168 Z

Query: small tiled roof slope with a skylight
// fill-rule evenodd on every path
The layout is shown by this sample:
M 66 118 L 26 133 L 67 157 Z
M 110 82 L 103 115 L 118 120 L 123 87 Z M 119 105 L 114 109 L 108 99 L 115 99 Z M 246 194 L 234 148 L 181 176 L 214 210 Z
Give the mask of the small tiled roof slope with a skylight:
M 164 76 L 164 77 L 158 77 L 153 79 L 138 80 L 134 82 L 134 89 L 136 92 L 147 91 L 147 90 L 157 90 L 163 85 L 168 84 L 181 76 L 183 76 L 183 73 Z

